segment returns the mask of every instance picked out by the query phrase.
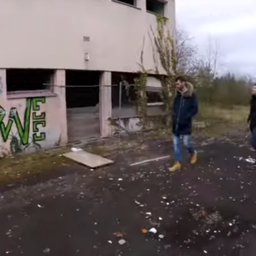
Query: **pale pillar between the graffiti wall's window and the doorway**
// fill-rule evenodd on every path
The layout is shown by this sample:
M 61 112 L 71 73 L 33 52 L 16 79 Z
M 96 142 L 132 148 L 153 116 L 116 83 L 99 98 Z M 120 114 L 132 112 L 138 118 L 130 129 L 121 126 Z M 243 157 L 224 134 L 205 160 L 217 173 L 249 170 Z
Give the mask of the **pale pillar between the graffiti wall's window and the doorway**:
M 55 70 L 53 75 L 53 92 L 58 95 L 59 109 L 58 119 L 60 119 L 60 144 L 68 143 L 68 124 L 67 124 L 67 107 L 65 99 L 65 70 Z

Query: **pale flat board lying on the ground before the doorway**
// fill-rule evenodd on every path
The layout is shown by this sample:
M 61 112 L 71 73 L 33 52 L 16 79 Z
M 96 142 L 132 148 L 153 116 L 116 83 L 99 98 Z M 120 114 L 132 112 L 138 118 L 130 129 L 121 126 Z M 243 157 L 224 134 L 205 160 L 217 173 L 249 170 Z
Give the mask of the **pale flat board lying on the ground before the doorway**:
M 69 153 L 63 154 L 63 156 L 73 161 L 76 161 L 79 164 L 83 164 L 87 167 L 90 167 L 92 169 L 114 163 L 114 161 L 110 159 L 106 159 L 105 157 L 91 154 L 83 150 L 76 151 L 76 152 L 69 152 Z

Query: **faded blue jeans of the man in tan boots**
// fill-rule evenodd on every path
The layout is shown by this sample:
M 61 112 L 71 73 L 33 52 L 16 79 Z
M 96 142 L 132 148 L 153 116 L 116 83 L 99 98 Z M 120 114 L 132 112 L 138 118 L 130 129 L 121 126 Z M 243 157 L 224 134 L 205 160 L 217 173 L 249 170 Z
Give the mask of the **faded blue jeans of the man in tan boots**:
M 196 149 L 194 149 L 194 147 L 193 147 L 191 135 L 181 135 L 181 136 L 174 135 L 173 141 L 174 141 L 175 161 L 181 161 L 181 159 L 182 159 L 181 140 L 183 140 L 183 144 L 184 144 L 184 146 L 186 146 L 186 149 L 188 149 L 189 154 L 191 154 L 191 155 L 196 154 Z

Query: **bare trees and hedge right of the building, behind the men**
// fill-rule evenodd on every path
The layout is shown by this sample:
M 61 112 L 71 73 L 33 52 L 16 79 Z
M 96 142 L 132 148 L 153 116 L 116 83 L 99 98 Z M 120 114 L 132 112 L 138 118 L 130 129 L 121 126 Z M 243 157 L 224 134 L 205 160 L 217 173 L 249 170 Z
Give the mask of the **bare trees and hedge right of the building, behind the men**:
M 250 87 L 255 79 L 221 73 L 221 57 L 218 44 L 210 39 L 206 53 L 200 55 L 187 31 L 180 29 L 176 32 L 176 72 L 186 75 L 196 85 L 199 100 L 223 107 L 248 105 Z

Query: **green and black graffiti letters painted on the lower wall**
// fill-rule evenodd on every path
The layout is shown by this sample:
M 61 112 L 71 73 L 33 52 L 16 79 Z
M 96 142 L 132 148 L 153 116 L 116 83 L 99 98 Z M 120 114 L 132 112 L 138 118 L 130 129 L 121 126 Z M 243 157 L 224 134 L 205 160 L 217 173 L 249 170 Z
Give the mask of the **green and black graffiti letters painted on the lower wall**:
M 46 112 L 41 112 L 41 104 L 45 103 L 46 97 L 27 98 L 23 122 L 20 117 L 21 113 L 18 112 L 16 107 L 11 107 L 7 121 L 7 112 L 4 107 L 0 106 L 0 134 L 3 141 L 6 142 L 11 139 L 11 142 L 13 142 L 15 140 L 16 136 L 11 133 L 14 124 L 16 125 L 19 141 L 23 146 L 29 144 L 31 134 L 33 142 L 45 140 L 46 133 L 40 131 L 41 127 L 46 127 Z

